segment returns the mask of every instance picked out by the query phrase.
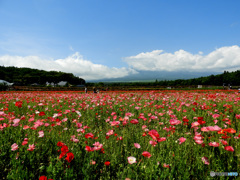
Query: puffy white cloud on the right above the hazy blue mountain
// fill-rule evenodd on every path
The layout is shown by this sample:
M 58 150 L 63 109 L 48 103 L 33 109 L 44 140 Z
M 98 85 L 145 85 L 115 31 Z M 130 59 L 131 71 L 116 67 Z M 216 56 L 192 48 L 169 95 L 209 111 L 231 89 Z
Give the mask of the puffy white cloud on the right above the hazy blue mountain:
M 131 68 L 143 71 L 234 71 L 240 69 L 240 47 L 222 47 L 205 56 L 202 52 L 191 54 L 179 50 L 165 53 L 163 50 L 154 50 L 124 60 Z

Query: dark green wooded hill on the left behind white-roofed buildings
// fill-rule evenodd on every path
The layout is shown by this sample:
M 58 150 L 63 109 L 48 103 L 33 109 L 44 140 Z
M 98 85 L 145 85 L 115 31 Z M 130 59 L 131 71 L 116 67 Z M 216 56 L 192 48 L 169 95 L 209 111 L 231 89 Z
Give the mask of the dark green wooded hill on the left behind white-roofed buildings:
M 0 79 L 16 85 L 45 85 L 48 83 L 57 84 L 60 81 L 67 81 L 71 85 L 84 85 L 85 80 L 74 76 L 72 73 L 60 71 L 44 71 L 31 68 L 17 68 L 0 66 Z

